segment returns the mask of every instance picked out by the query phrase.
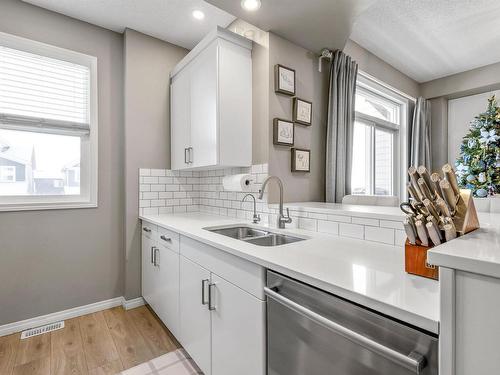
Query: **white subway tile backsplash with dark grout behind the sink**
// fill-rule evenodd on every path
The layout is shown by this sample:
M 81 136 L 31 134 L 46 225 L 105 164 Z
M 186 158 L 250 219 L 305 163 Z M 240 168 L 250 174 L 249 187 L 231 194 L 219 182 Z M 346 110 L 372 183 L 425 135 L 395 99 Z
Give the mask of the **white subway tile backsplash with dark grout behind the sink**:
M 248 173 L 252 176 L 249 193 L 255 198 L 268 175 L 267 164 L 248 168 L 225 168 L 208 171 L 171 171 L 167 169 L 139 170 L 139 213 L 158 215 L 185 212 L 204 212 L 251 220 L 253 202 L 241 200 L 245 193 L 225 191 L 222 179 L 226 175 Z M 285 204 L 286 206 L 286 204 Z M 264 199 L 257 199 L 257 212 L 261 223 L 276 225 L 276 208 Z M 382 242 L 401 246 L 406 235 L 401 221 L 308 212 L 306 208 L 290 209 L 292 224 L 289 228 L 300 228 L 343 237 Z

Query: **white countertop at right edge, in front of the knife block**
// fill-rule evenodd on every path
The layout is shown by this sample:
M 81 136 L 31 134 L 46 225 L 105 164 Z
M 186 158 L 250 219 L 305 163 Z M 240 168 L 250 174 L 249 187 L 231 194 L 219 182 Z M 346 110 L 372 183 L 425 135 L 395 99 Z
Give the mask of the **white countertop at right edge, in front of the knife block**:
M 429 263 L 500 278 L 500 214 L 478 216 L 481 228 L 429 250 Z

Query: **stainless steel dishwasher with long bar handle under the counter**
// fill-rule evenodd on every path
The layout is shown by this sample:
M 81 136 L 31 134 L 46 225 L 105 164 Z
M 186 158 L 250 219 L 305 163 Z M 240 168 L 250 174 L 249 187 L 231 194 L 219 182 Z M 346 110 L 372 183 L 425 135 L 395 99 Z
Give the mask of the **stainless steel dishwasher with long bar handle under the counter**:
M 273 271 L 268 375 L 436 375 L 438 338 Z

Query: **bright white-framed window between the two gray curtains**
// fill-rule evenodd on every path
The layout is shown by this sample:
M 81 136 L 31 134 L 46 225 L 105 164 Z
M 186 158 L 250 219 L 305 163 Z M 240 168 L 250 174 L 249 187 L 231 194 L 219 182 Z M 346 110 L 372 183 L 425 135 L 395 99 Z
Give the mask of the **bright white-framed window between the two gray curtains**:
M 404 197 L 399 176 L 406 165 L 408 101 L 365 74 L 356 86 L 352 194 Z M 403 141 L 402 141 L 403 140 Z M 404 172 L 403 172 L 404 173 Z

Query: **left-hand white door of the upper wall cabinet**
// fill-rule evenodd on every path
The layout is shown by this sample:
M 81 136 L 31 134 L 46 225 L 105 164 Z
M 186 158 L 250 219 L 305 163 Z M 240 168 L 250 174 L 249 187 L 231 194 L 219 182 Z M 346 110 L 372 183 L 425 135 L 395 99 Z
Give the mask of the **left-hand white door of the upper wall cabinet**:
M 170 144 L 172 169 L 189 167 L 190 147 L 190 73 L 185 67 L 170 85 Z

